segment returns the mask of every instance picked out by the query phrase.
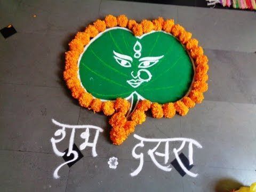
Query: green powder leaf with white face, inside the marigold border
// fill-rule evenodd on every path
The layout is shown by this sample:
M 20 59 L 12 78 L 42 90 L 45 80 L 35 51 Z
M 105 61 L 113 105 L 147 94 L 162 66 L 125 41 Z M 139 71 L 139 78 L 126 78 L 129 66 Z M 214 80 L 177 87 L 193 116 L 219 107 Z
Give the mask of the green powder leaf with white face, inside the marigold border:
M 175 102 L 194 77 L 182 44 L 163 31 L 135 37 L 126 28 L 107 29 L 85 47 L 78 66 L 83 87 L 95 98 L 131 99 L 133 107 L 139 99 Z

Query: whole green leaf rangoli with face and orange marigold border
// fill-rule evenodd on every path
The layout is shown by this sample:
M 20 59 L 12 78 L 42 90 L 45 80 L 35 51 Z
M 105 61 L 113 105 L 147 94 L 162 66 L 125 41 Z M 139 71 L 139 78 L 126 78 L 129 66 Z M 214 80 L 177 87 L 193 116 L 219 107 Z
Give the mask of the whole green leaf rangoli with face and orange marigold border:
M 63 76 L 79 105 L 110 116 L 110 139 L 121 145 L 146 111 L 184 116 L 203 101 L 208 59 L 191 36 L 172 19 L 107 15 L 69 43 Z

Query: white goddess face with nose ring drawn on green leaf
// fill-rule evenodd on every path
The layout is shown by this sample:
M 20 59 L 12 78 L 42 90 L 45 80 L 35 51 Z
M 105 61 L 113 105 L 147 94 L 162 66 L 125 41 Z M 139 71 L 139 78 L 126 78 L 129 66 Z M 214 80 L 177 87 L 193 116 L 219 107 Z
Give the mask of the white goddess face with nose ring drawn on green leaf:
M 131 72 L 131 79 L 127 80 L 126 82 L 134 88 L 137 88 L 144 82 L 149 82 L 152 78 L 152 75 L 148 68 L 156 65 L 160 59 L 164 57 L 164 55 L 158 57 L 143 57 L 141 58 L 141 50 L 142 46 L 140 42 L 136 42 L 133 46 L 134 55 L 133 58 L 129 55 L 121 54 L 116 51 L 113 51 L 114 58 L 116 62 L 121 65 L 122 67 L 130 68 L 132 67 L 132 63 L 135 59 L 139 61 L 138 70 Z

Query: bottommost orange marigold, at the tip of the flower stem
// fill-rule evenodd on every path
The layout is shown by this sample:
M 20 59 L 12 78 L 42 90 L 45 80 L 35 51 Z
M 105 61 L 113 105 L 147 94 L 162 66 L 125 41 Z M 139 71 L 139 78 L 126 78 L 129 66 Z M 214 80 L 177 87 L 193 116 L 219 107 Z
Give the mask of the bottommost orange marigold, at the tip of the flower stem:
M 113 127 L 110 131 L 110 139 L 114 145 L 121 145 L 127 138 L 126 131 L 124 127 Z

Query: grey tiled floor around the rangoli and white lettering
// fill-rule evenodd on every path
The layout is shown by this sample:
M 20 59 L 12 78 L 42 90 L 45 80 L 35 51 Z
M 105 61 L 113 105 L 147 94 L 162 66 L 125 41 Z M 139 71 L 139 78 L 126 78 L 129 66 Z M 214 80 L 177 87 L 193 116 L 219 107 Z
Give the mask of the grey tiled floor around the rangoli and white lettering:
M 139 165 L 131 155 L 138 140 L 129 137 L 122 146 L 112 145 L 107 118 L 80 108 L 70 97 L 61 76 L 67 44 L 76 31 L 109 13 L 136 20 L 173 18 L 205 48 L 210 60 L 205 101 L 186 117 L 148 117 L 135 131 L 142 137 L 200 142 L 203 149 L 194 151 L 191 170 L 198 173 L 196 178 L 182 178 L 174 169 L 163 172 L 148 156 L 140 174 L 131 178 Z M 205 192 L 216 191 L 222 180 L 235 181 L 234 187 L 256 181 L 254 12 L 104 0 L 1 0 L 0 28 L 10 23 L 18 33 L 7 39 L 0 36 L 0 191 Z M 53 178 L 64 161 L 52 150 L 50 138 L 57 130 L 52 118 L 105 130 L 97 143 L 98 157 L 83 150 L 80 161 L 70 169 L 62 167 L 60 179 Z M 76 142 L 78 137 L 79 133 Z M 68 139 L 58 147 L 65 150 Z M 119 158 L 116 170 L 107 165 L 111 156 Z M 223 185 L 217 191 L 231 187 Z

